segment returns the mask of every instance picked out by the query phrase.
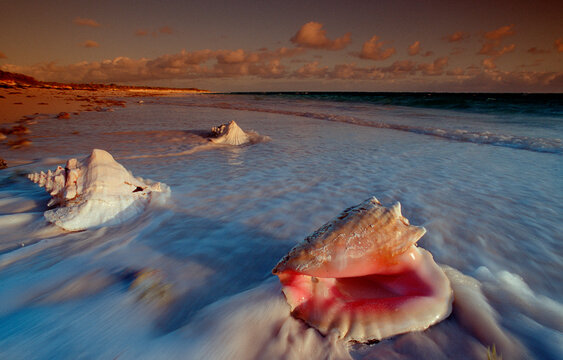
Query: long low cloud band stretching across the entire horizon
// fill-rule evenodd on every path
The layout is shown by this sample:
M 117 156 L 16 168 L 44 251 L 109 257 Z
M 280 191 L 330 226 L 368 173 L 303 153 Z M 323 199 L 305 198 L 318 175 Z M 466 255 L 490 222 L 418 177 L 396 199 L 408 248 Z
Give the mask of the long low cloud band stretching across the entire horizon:
M 372 90 L 549 92 L 563 88 L 563 72 L 500 71 L 496 67 L 495 57 L 486 57 L 480 66 L 451 70 L 448 69 L 447 56 L 428 63 L 400 60 L 387 66 L 358 66 L 354 63 L 326 66 L 322 60 L 305 64 L 291 62 L 305 52 L 306 49 L 299 47 L 259 51 L 184 50 L 153 59 L 117 57 L 71 65 L 54 62 L 31 66 L 4 64 L 0 65 L 0 69 L 28 74 L 45 81 L 82 83 L 147 84 L 149 81 L 159 81 L 166 84 L 173 80 L 179 84 L 178 81 L 187 80 L 254 78 L 269 79 L 272 86 L 280 84 L 276 79 L 314 79 L 343 81 Z

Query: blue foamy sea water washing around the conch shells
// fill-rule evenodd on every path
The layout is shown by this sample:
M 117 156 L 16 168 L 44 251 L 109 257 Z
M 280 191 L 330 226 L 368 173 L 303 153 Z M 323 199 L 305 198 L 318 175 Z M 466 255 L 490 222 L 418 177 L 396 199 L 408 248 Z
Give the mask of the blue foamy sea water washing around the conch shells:
M 127 98 L 40 120 L 0 171 L 0 358 L 562 358 L 562 96 L 448 96 Z M 230 120 L 270 139 L 202 137 Z M 25 174 L 94 148 L 170 200 L 118 226 L 48 224 Z M 424 332 L 347 344 L 293 319 L 271 269 L 370 196 L 426 227 L 456 298 Z

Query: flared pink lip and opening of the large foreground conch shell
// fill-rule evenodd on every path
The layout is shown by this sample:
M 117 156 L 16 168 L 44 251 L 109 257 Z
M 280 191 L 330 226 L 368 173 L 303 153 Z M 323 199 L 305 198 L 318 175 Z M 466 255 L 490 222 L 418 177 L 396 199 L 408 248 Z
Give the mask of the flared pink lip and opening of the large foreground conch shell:
M 397 274 L 318 278 L 286 270 L 278 277 L 292 316 L 321 334 L 380 340 L 424 330 L 451 313 L 449 280 L 429 252 L 413 251 L 421 262 Z

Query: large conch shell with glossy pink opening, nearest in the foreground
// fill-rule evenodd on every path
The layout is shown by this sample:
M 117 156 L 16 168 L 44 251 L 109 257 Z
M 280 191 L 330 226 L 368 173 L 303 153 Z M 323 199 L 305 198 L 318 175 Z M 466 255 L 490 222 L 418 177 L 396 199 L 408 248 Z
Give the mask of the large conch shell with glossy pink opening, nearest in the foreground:
M 274 268 L 292 315 L 322 334 L 368 342 L 419 331 L 451 312 L 452 289 L 416 246 L 423 227 L 372 197 L 344 210 Z

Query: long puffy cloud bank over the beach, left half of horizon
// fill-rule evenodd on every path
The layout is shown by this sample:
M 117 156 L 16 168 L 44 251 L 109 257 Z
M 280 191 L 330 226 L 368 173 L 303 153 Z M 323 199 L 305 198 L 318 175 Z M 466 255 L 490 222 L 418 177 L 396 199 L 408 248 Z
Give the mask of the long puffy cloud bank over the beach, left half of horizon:
M 117 57 L 101 62 L 79 62 L 60 66 L 54 62 L 33 66 L 3 65 L 6 71 L 29 74 L 44 81 L 146 82 L 166 79 L 209 79 L 254 76 L 263 79 L 288 76 L 281 63 L 304 52 L 300 48 L 273 51 L 238 50 L 181 51 L 155 59 Z M 9 70 L 8 70 L 9 69 Z

